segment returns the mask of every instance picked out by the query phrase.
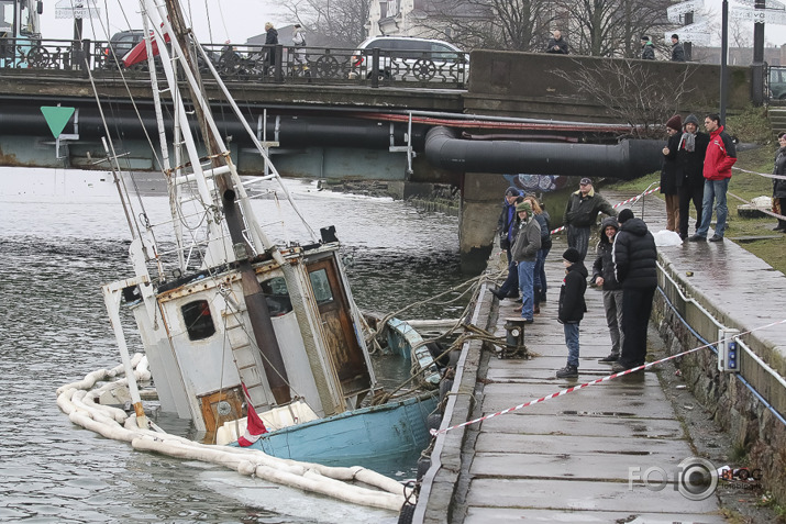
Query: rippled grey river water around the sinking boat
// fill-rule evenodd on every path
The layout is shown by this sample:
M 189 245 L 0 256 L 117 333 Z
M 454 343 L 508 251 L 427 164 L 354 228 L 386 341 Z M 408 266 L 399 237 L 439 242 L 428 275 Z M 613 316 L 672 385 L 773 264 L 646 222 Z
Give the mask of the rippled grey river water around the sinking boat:
M 313 226 L 336 226 L 362 308 L 395 311 L 465 278 L 455 218 L 291 188 Z M 9 194 L 0 191 L 0 521 L 396 522 L 217 466 L 134 451 L 71 424 L 55 390 L 120 361 L 100 285 L 131 276 L 130 235 L 117 197 L 77 204 L 69 196 Z M 158 203 L 165 208 L 165 197 Z M 257 205 L 278 220 L 275 201 Z M 461 309 L 410 316 L 454 317 Z

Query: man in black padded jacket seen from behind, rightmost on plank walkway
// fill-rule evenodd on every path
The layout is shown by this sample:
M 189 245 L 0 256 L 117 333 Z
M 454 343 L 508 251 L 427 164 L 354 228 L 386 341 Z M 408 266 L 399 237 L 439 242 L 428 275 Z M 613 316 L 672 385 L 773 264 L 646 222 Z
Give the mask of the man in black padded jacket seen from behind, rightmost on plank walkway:
M 617 281 L 622 285 L 622 355 L 611 368 L 624 371 L 644 364 L 646 326 L 652 313 L 652 299 L 657 288 L 657 248 L 655 238 L 641 219 L 629 209 L 620 211 L 620 232 L 615 238 L 612 259 Z

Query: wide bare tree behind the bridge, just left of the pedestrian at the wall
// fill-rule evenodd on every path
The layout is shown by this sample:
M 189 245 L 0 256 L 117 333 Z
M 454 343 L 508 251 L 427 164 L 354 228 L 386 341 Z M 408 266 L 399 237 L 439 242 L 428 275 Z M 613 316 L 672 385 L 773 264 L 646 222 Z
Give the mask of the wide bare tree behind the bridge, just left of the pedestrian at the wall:
M 472 49 L 540 51 L 554 19 L 552 0 L 416 1 L 436 37 Z

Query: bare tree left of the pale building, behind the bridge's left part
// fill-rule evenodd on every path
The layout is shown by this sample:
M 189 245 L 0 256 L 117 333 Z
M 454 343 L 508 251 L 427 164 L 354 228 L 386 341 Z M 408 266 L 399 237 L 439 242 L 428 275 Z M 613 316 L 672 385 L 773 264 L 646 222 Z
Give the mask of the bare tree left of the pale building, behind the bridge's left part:
M 372 0 L 285 0 L 292 23 L 308 27 L 309 44 L 355 47 L 366 37 Z

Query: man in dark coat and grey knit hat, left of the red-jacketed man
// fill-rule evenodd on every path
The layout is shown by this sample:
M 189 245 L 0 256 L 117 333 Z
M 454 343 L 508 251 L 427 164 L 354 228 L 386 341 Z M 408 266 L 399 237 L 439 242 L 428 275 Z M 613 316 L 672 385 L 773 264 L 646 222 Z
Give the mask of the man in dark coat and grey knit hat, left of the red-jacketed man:
M 704 164 L 709 135 L 699 131 L 699 119 L 689 114 L 683 123 L 683 135 L 677 146 L 677 200 L 679 201 L 679 236 L 685 241 L 688 237 L 688 219 L 690 218 L 690 202 L 696 210 L 696 230 L 701 222 L 701 201 L 705 193 Z

